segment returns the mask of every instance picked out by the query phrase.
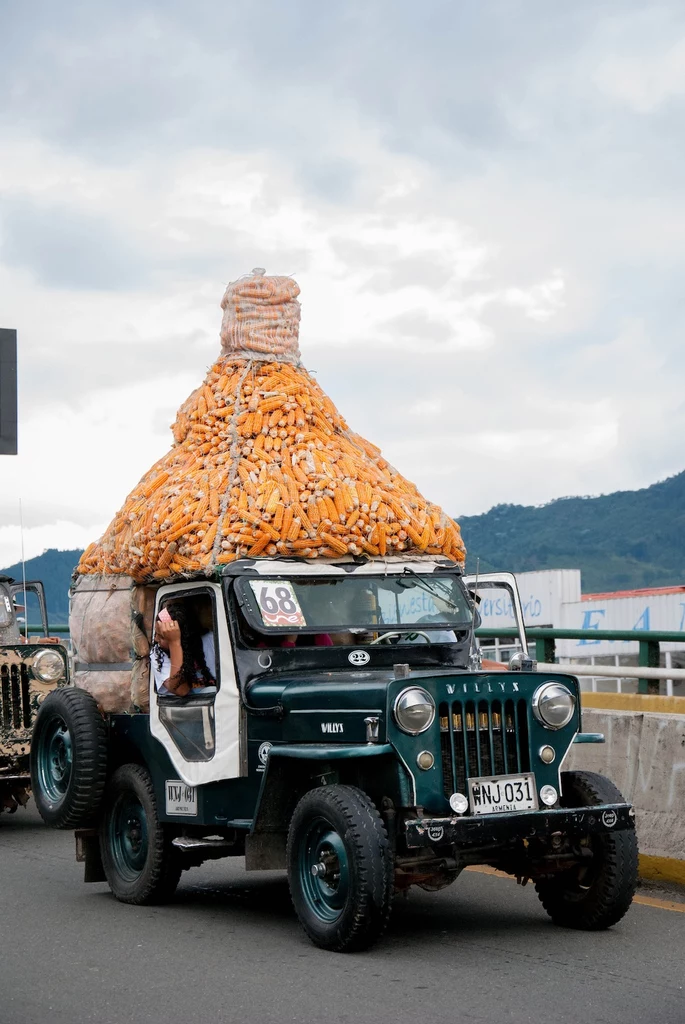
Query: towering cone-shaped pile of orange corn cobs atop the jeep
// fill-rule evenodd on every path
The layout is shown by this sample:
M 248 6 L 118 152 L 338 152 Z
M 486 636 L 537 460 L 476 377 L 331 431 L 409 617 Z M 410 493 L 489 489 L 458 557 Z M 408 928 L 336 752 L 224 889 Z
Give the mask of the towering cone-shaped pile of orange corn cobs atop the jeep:
M 171 450 L 77 573 L 161 581 L 259 555 L 464 560 L 459 526 L 348 428 L 302 367 L 299 291 L 263 270 L 228 286 L 219 358 L 178 411 Z

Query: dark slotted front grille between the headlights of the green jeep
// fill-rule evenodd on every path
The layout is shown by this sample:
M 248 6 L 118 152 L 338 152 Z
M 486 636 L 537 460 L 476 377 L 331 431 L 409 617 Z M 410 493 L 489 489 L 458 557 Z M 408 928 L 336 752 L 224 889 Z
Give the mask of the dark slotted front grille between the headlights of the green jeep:
M 525 700 L 454 700 L 439 716 L 446 797 L 466 794 L 468 778 L 530 770 Z

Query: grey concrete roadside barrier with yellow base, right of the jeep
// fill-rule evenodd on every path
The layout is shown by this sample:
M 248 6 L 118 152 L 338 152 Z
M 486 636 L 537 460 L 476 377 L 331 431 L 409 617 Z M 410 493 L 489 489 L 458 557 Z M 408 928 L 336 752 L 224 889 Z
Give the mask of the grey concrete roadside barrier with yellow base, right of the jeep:
M 640 873 L 685 884 L 685 716 L 584 708 L 583 730 L 564 768 L 600 772 L 635 807 Z

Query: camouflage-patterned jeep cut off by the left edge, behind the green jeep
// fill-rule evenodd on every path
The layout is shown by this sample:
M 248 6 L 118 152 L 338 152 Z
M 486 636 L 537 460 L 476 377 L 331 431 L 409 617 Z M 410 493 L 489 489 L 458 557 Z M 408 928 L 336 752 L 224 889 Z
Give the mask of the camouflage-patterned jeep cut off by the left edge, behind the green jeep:
M 31 642 L 16 621 L 15 601 L 25 591 L 36 597 L 42 617 L 43 636 Z M 26 806 L 34 720 L 44 697 L 68 678 L 67 649 L 48 636 L 42 583 L 0 575 L 0 813 Z

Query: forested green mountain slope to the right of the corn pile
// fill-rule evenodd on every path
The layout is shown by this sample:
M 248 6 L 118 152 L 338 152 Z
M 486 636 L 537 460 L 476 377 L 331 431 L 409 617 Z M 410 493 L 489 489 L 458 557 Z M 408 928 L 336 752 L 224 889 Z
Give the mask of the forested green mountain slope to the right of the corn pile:
M 641 490 L 497 505 L 459 520 L 475 571 L 580 568 L 586 594 L 685 583 L 685 472 Z

